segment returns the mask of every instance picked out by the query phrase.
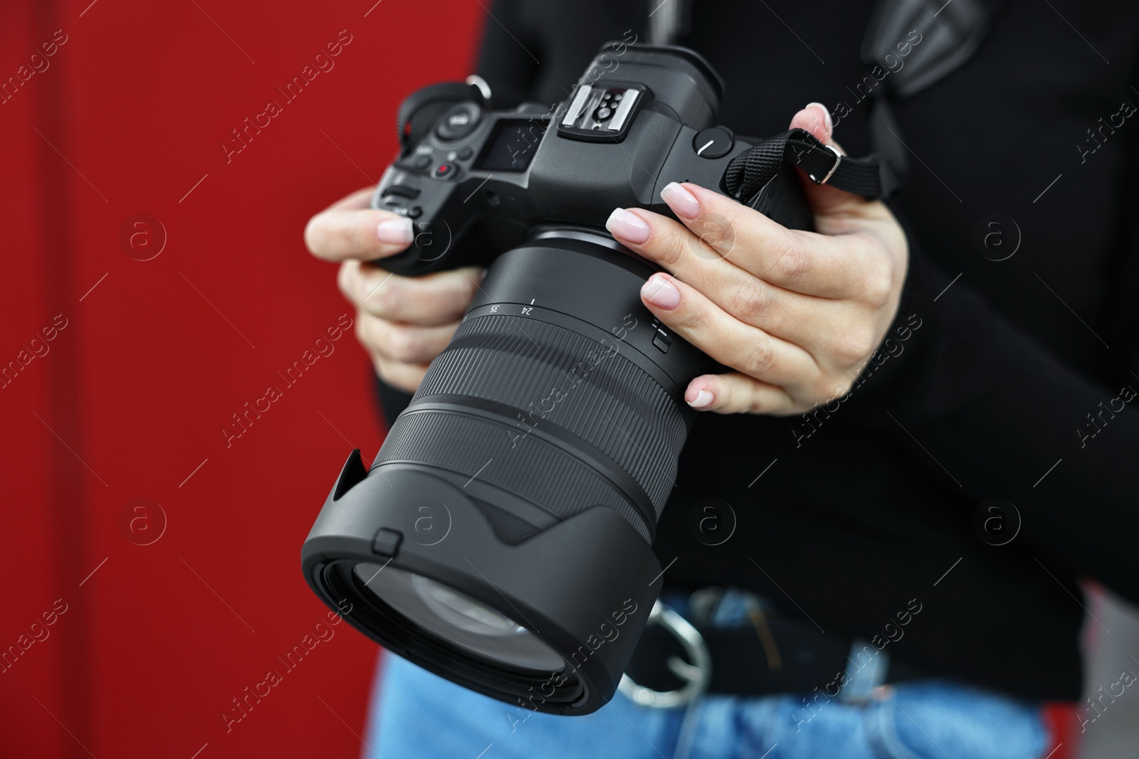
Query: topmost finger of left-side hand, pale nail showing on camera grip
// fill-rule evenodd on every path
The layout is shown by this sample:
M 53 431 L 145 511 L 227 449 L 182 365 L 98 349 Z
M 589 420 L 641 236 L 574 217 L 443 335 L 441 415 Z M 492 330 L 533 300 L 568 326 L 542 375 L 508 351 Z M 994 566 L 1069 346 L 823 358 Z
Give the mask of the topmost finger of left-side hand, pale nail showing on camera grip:
M 355 207 L 359 191 L 309 220 L 304 242 L 309 251 L 326 261 L 371 261 L 407 249 L 412 240 L 411 220 L 387 211 Z M 367 205 L 367 204 L 364 204 Z

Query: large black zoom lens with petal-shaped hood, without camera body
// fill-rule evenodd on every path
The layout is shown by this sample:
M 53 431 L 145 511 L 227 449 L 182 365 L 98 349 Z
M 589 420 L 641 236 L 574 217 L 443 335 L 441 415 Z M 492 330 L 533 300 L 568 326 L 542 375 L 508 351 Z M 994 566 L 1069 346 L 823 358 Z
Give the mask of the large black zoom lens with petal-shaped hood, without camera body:
M 710 361 L 639 299 L 612 238 L 501 255 L 370 470 L 353 452 L 305 578 L 392 652 L 532 710 L 616 691 L 661 587 L 652 551 Z

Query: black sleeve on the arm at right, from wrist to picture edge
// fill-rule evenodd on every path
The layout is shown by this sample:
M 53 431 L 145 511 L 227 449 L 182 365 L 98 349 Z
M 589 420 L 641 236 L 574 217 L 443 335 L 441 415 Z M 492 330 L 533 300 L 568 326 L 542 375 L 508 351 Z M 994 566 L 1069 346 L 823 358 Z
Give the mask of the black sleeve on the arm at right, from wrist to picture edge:
M 1019 539 L 1051 571 L 1139 601 L 1139 377 L 1087 379 L 952 282 L 912 238 L 910 256 L 891 337 L 847 396 L 851 413 L 972 503 L 1015 504 Z

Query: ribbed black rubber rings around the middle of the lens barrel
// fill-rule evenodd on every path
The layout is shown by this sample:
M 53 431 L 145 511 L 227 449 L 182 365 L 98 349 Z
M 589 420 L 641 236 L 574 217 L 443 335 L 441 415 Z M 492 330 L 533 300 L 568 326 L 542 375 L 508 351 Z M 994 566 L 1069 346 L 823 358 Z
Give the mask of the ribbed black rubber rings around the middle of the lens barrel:
M 615 337 L 603 345 L 536 319 L 468 319 L 432 363 L 376 464 L 412 461 L 477 472 L 559 519 L 608 505 L 652 539 L 687 428 L 675 401 L 622 355 L 631 350 Z M 427 407 L 441 396 L 482 398 L 510 413 Z M 601 465 L 591 465 L 583 452 Z M 637 494 L 623 488 L 639 490 L 650 513 L 642 517 Z

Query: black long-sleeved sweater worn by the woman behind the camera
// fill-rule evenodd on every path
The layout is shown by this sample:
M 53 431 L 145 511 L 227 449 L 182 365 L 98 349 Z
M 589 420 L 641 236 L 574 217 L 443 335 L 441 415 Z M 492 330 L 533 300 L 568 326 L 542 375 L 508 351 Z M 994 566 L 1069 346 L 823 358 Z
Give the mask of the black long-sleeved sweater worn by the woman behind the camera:
M 738 134 L 782 131 L 818 100 L 846 114 L 836 139 L 861 155 L 871 5 L 696 0 L 677 42 L 724 77 L 720 121 Z M 500 0 L 490 14 L 480 73 L 550 104 L 603 42 L 645 39 L 648 6 Z M 1121 109 L 1139 106 L 1137 32 L 1133 2 L 1010 2 L 964 66 L 895 102 L 912 163 L 892 201 L 911 250 L 895 343 L 833 413 L 700 418 L 655 544 L 662 566 L 675 559 L 666 584 L 749 587 L 867 640 L 916 599 L 893 655 L 1079 698 L 1075 580 L 1139 602 L 1139 124 Z M 410 399 L 382 396 L 388 419 Z M 704 498 L 738 519 L 723 545 L 689 529 Z M 1005 545 L 989 543 L 1015 518 L 1005 538 L 977 529 L 1000 513 L 992 498 L 1019 513 Z

